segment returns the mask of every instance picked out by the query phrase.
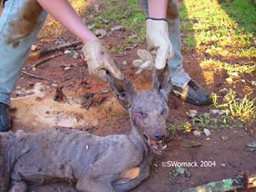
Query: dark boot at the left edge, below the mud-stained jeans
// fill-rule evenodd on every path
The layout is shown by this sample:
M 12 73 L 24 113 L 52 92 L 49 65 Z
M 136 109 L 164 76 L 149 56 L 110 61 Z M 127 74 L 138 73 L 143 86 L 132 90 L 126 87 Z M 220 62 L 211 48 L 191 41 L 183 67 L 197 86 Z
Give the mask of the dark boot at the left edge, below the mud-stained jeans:
M 8 132 L 11 129 L 11 114 L 9 106 L 0 102 L 0 132 Z

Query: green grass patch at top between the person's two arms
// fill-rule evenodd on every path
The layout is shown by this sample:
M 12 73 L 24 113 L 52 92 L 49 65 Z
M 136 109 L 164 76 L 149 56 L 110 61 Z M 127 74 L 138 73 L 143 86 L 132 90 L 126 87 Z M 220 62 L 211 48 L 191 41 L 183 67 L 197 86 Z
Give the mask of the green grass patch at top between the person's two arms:
M 116 46 L 111 49 L 112 53 L 120 53 L 132 45 L 139 45 L 144 42 L 146 37 L 146 15 L 144 11 L 139 11 L 139 0 L 127 0 L 125 2 L 105 1 L 101 7 L 105 7 L 105 9 L 101 9 L 99 13 L 86 11 L 87 14 L 94 15 L 93 18 L 87 19 L 87 22 L 92 26 L 91 30 L 96 28 L 106 28 L 108 30 L 114 26 L 121 25 L 125 31 L 137 36 L 136 38 L 127 36 L 124 42 L 121 43 L 122 46 Z

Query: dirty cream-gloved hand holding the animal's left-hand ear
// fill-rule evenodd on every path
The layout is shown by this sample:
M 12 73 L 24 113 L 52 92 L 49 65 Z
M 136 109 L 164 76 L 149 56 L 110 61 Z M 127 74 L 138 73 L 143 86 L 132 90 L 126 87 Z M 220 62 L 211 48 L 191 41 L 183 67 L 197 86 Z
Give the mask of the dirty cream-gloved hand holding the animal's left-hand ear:
M 124 79 L 124 74 L 114 64 L 105 41 L 90 41 L 83 46 L 82 52 L 85 55 L 85 60 L 87 60 L 90 75 L 107 82 L 107 78 L 105 78 L 107 70 L 114 78 Z

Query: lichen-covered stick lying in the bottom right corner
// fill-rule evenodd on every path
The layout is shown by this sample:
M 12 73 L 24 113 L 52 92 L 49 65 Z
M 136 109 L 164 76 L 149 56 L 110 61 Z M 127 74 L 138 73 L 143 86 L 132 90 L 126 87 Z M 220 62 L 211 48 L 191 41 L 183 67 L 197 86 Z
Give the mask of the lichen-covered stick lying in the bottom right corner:
M 235 190 L 238 188 L 253 188 L 256 187 L 256 174 L 251 176 L 234 176 L 233 178 L 223 179 L 222 181 L 207 183 L 196 188 L 189 188 L 182 192 L 224 192 Z

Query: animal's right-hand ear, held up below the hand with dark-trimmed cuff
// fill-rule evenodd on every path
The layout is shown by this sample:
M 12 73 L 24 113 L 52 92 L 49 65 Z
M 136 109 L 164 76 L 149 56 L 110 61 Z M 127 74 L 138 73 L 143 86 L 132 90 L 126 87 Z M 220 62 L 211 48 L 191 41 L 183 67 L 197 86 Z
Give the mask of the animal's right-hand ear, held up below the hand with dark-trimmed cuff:
M 156 70 L 154 69 L 152 73 L 152 90 L 157 90 L 160 95 L 164 97 L 165 100 L 167 100 L 167 96 L 169 92 L 171 91 L 172 82 L 171 82 L 171 76 L 169 72 L 169 66 L 166 63 L 166 66 L 162 70 Z

